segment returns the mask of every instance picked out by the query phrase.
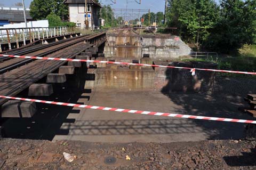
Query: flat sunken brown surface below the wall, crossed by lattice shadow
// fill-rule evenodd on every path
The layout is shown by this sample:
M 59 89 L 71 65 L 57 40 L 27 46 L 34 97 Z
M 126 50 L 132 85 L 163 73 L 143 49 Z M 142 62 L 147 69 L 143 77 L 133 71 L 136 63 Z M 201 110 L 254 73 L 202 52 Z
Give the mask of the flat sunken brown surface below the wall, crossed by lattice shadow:
M 90 100 L 87 101 L 89 96 Z M 242 107 L 244 103 L 242 98 L 226 95 L 94 91 L 82 94 L 78 102 L 123 109 L 250 119 L 238 111 L 238 107 Z M 244 137 L 245 124 L 240 123 L 79 108 L 75 108 L 75 112 L 76 114 L 69 114 L 67 123 L 60 127 L 66 133 L 55 135 L 53 140 L 163 143 Z

